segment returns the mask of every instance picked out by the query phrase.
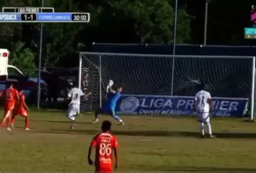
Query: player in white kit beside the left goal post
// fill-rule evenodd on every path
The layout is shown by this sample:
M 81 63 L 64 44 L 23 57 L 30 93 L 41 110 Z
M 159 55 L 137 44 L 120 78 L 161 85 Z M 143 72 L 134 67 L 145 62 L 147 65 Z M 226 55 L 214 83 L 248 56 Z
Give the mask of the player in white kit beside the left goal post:
M 72 85 L 72 89 L 68 92 L 68 98 L 71 99 L 71 101 L 68 105 L 67 117 L 71 121 L 70 129 L 73 129 L 75 116 L 80 112 L 80 97 L 84 94 L 81 89 L 74 87 L 72 83 L 70 83 L 70 85 Z M 88 95 L 90 94 L 91 93 Z M 87 97 L 88 95 L 84 95 L 84 97 Z

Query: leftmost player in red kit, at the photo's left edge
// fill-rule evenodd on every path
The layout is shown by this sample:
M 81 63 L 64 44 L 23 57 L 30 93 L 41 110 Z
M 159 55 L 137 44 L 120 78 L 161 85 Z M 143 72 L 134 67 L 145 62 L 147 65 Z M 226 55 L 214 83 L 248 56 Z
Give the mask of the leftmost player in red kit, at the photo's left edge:
M 11 113 L 15 104 L 19 102 L 18 90 L 13 87 L 13 84 L 10 84 L 9 88 L 1 91 L 0 96 L 4 97 L 4 117 L 0 122 L 0 127 L 8 120 L 7 130 L 11 131 Z

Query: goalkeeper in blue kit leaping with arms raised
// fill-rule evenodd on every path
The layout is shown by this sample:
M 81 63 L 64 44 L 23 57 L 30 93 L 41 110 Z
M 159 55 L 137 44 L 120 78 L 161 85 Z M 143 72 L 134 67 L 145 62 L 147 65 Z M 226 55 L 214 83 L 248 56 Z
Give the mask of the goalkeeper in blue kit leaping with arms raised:
M 110 92 L 108 93 L 107 103 L 104 104 L 100 109 L 95 111 L 95 120 L 92 122 L 93 124 L 99 122 L 98 115 L 100 113 L 109 113 L 115 120 L 119 121 L 120 124 L 124 125 L 124 122 L 119 118 L 116 114 L 116 104 L 121 96 L 121 92 L 123 90 L 122 87 L 119 87 L 117 90 L 113 90 L 112 87 L 109 88 Z

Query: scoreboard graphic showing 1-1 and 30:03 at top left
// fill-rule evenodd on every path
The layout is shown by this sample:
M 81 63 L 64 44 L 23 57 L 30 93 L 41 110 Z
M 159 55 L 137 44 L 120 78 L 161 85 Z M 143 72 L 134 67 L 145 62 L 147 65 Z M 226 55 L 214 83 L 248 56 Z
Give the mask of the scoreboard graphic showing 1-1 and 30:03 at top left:
M 18 23 L 88 23 L 90 13 L 55 13 L 54 8 L 3 7 L 0 22 Z

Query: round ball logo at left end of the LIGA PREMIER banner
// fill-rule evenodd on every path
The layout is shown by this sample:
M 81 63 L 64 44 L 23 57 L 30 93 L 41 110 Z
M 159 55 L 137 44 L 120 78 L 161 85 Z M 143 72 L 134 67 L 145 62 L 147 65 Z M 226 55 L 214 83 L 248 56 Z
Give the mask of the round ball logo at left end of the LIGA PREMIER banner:
M 119 106 L 121 112 L 135 112 L 138 107 L 139 101 L 135 97 L 125 98 Z

